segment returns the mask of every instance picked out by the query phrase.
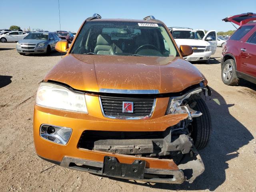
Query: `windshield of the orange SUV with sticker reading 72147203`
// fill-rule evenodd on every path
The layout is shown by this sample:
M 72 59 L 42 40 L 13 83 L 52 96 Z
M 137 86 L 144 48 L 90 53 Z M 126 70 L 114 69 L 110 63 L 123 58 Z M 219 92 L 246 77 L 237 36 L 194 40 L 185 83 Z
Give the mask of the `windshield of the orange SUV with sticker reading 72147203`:
M 179 56 L 162 24 L 90 21 L 71 53 L 121 56 Z

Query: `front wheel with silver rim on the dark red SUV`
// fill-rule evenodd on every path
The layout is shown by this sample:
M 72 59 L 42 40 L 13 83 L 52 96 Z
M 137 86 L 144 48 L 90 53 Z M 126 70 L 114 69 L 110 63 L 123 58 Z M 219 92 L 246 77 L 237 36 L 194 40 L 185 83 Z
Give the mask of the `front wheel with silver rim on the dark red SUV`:
M 239 78 L 236 76 L 236 64 L 233 59 L 228 59 L 221 66 L 221 79 L 226 85 L 236 85 Z

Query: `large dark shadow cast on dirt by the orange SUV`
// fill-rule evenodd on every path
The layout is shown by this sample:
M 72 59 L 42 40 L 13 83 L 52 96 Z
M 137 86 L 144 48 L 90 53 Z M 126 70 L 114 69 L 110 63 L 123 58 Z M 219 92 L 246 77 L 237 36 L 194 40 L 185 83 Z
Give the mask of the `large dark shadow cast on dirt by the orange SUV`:
M 245 126 L 229 113 L 228 108 L 234 106 L 234 104 L 227 104 L 218 92 L 212 90 L 212 100 L 206 103 L 212 116 L 212 137 L 208 146 L 199 151 L 204 162 L 205 171 L 192 184 L 188 182 L 180 185 L 152 184 L 112 179 L 166 190 L 216 190 L 226 180 L 225 170 L 229 168 L 227 162 L 238 157 L 238 149 L 247 145 L 253 139 L 253 136 Z

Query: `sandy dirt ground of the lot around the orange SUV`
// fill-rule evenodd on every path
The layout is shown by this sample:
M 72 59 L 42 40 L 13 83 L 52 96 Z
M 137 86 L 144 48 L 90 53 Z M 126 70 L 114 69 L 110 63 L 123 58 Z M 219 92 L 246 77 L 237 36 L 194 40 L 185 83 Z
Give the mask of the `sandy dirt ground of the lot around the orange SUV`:
M 226 86 L 218 48 L 210 64 L 194 64 L 208 79 L 212 139 L 200 151 L 204 173 L 194 183 L 154 184 L 69 170 L 40 159 L 32 118 L 38 83 L 61 56 L 21 56 L 15 43 L 0 43 L 0 191 L 256 191 L 256 85 Z

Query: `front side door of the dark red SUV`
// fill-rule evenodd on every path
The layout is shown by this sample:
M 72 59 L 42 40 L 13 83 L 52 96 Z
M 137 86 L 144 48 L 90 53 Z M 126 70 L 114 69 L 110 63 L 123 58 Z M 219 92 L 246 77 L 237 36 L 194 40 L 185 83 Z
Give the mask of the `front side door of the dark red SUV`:
M 242 44 L 241 65 L 245 74 L 256 77 L 256 32 Z

